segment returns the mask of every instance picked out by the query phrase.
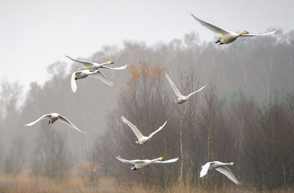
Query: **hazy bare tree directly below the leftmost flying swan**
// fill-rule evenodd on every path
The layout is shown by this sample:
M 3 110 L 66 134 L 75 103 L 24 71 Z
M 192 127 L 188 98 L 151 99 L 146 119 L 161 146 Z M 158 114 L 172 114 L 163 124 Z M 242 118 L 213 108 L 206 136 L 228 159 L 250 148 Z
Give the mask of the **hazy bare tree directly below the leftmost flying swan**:
M 36 147 L 31 158 L 31 175 L 55 181 L 66 180 L 74 164 L 74 156 L 68 147 L 66 136 L 54 126 L 42 122 L 35 142 Z

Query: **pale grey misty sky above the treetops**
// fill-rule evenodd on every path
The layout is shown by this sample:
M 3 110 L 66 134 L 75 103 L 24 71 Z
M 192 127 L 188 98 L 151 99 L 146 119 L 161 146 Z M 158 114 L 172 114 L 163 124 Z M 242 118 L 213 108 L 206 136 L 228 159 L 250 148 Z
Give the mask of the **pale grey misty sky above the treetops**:
M 206 41 L 219 36 L 187 11 L 229 31 L 265 33 L 279 27 L 287 33 L 294 29 L 293 0 L 2 0 L 0 61 L 4 73 L 0 77 L 20 81 L 28 89 L 33 81 L 43 84 L 48 80 L 49 64 L 58 60 L 72 63 L 63 55 L 87 58 L 103 45 L 122 47 L 124 40 L 145 41 L 149 46 L 168 43 L 192 31 Z M 124 65 L 114 62 L 111 67 Z

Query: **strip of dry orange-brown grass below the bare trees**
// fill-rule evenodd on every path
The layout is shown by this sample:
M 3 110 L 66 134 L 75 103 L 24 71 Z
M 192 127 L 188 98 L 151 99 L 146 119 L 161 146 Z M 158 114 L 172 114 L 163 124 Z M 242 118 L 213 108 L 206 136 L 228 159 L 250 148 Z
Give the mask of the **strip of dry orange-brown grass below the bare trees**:
M 48 180 L 45 178 L 39 178 L 38 181 L 36 178 L 30 178 L 26 173 L 19 175 L 18 177 L 9 177 L 5 175 L 0 175 L 0 193 L 59 193 L 59 192 L 76 192 L 76 193 L 104 193 L 104 192 L 127 192 L 127 193 L 211 193 L 219 192 L 225 193 L 228 192 L 218 190 L 203 190 L 201 188 L 194 187 L 192 190 L 184 184 L 174 184 L 170 188 L 146 188 L 141 184 L 125 184 L 121 182 L 120 186 L 118 185 L 117 179 L 114 177 L 110 178 L 100 178 L 99 183 L 96 187 L 87 187 L 84 185 L 82 180 L 77 176 L 72 176 L 67 181 L 56 182 Z M 229 192 L 238 192 L 238 193 L 251 193 L 258 191 L 246 190 L 243 186 L 237 186 L 235 189 L 232 188 Z M 284 192 L 293 192 L 293 190 L 285 191 L 283 189 L 277 189 L 272 191 L 261 191 L 259 193 L 284 193 Z

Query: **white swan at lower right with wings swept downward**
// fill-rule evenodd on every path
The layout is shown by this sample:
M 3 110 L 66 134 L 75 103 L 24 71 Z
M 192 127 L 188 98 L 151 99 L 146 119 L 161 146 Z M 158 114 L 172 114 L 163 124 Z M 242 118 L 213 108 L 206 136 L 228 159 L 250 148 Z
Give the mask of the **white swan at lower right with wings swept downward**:
M 232 171 L 229 168 L 227 168 L 225 165 L 236 165 L 236 164 L 234 164 L 233 162 L 231 163 L 222 163 L 219 161 L 208 162 L 201 167 L 202 170 L 200 171 L 200 177 L 205 176 L 208 170 L 216 169 L 220 173 L 225 174 L 226 177 L 232 180 L 235 184 L 238 184 L 238 185 L 241 184 L 242 182 L 239 182 L 234 176 L 234 174 L 232 173 Z

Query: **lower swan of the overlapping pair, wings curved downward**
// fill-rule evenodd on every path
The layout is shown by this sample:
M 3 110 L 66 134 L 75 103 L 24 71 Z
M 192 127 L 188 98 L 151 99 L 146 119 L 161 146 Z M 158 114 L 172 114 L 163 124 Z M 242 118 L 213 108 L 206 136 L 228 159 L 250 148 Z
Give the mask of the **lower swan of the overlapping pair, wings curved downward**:
M 75 83 L 75 80 L 83 79 L 83 78 L 86 78 L 87 76 L 98 78 L 102 82 L 108 84 L 109 86 L 113 85 L 113 83 L 110 82 L 100 70 L 82 70 L 82 71 L 77 71 L 72 73 L 72 78 L 70 80 L 70 83 L 71 83 L 73 92 L 77 90 L 77 84 Z

